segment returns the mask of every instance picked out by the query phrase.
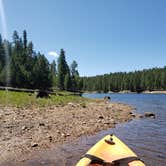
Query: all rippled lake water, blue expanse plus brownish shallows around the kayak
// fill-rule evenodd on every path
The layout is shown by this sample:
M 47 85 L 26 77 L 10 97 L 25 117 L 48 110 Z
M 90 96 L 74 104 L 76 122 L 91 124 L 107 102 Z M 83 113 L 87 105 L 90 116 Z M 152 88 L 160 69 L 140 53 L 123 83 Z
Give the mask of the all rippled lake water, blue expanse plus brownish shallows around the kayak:
M 151 111 L 156 119 L 137 119 L 119 124 L 114 129 L 101 131 L 94 136 L 82 136 L 75 142 L 34 155 L 27 166 L 74 166 L 92 145 L 106 134 L 114 133 L 141 157 L 147 166 L 166 165 L 166 95 L 157 94 L 84 94 L 88 98 L 110 96 L 113 102 L 127 103 L 144 114 Z

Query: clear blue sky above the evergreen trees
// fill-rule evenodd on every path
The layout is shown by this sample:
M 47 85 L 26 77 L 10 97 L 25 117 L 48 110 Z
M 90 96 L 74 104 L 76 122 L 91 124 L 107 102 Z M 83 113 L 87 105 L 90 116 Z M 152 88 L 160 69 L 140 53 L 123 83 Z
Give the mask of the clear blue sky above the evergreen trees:
M 51 61 L 64 48 L 81 75 L 166 65 L 165 0 L 3 1 L 9 40 L 26 29 L 35 50 Z

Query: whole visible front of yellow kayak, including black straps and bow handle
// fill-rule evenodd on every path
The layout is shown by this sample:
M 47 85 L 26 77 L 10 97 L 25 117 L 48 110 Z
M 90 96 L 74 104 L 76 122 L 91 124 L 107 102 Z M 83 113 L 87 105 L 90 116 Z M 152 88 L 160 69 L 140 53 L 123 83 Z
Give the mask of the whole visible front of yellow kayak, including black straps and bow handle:
M 97 142 L 76 166 L 145 166 L 119 138 L 110 134 Z

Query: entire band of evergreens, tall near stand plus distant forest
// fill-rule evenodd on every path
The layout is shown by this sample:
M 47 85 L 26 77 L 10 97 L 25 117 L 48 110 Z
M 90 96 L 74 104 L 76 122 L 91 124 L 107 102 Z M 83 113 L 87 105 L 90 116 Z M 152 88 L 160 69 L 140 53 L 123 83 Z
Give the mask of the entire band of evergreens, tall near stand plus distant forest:
M 57 62 L 49 63 L 44 54 L 34 50 L 25 30 L 22 36 L 14 31 L 12 42 L 0 35 L 0 86 L 97 92 L 166 90 L 166 67 L 80 77 L 77 62 L 68 65 L 63 49 Z

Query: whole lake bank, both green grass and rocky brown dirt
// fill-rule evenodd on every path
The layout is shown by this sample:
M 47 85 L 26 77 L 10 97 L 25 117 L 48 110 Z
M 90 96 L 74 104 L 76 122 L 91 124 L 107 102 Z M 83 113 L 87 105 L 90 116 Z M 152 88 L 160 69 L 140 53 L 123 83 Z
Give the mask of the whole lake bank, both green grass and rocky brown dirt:
M 58 95 L 46 99 L 36 98 L 34 93 L 0 91 L 0 165 L 10 165 L 7 160 L 21 165 L 35 151 L 132 119 L 133 108 L 125 104 L 85 99 L 67 92 Z

